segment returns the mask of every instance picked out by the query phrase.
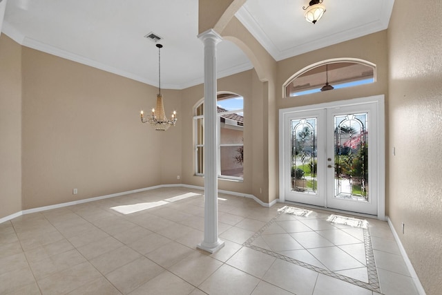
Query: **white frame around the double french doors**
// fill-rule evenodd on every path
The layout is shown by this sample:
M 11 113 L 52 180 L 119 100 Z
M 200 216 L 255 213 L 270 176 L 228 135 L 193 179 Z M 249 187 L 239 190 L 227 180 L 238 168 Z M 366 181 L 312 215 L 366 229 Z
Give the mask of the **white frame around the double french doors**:
M 323 108 L 333 108 L 337 106 L 355 106 L 358 104 L 367 104 L 370 102 L 376 102 L 378 113 L 378 142 L 377 150 L 378 155 L 376 158 L 378 173 L 375 173 L 378 186 L 376 188 L 376 195 L 378 196 L 378 210 L 377 218 L 379 220 L 385 220 L 385 98 L 384 95 L 374 95 L 370 97 L 361 97 L 355 99 L 340 100 L 336 102 L 327 102 L 323 104 L 313 104 L 309 106 L 298 106 L 294 108 L 282 108 L 279 110 L 279 202 L 285 202 L 285 187 L 289 185 L 287 178 L 285 177 L 285 171 L 288 171 L 287 165 L 290 163 L 285 161 L 285 146 L 287 140 L 290 140 L 287 136 L 289 134 L 287 124 L 285 121 L 287 117 L 294 112 L 299 111 L 312 111 Z

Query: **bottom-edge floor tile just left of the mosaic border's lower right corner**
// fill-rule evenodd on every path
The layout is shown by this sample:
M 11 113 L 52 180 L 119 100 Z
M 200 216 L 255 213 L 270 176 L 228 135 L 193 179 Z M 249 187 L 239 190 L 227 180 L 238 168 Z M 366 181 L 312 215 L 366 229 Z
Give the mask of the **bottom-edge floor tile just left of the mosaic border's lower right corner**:
M 344 282 L 343 280 L 332 278 L 331 276 L 325 276 L 324 274 L 319 274 L 313 295 L 330 295 L 330 294 L 372 295 L 372 291 Z

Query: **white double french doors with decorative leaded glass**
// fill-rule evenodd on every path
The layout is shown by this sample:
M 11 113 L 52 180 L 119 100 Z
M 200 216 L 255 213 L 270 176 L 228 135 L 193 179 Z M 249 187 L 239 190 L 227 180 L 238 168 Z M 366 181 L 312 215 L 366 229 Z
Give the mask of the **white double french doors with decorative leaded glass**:
M 384 214 L 383 122 L 371 100 L 281 110 L 282 200 Z

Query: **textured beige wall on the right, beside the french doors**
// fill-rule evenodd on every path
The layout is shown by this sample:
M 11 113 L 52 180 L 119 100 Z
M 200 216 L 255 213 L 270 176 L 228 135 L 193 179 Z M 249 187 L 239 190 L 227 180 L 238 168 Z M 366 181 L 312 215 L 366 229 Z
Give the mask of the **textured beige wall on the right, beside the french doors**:
M 395 1 L 390 56 L 389 216 L 427 294 L 442 290 L 442 4 Z M 401 222 L 405 223 L 402 234 Z

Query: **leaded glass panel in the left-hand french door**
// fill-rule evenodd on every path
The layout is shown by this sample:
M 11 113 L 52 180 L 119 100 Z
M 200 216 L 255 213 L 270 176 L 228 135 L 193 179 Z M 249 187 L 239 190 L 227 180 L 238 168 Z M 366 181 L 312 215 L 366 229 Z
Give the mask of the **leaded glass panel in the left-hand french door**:
M 318 192 L 316 120 L 291 120 L 291 191 Z

